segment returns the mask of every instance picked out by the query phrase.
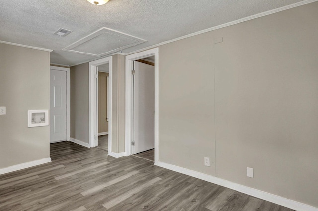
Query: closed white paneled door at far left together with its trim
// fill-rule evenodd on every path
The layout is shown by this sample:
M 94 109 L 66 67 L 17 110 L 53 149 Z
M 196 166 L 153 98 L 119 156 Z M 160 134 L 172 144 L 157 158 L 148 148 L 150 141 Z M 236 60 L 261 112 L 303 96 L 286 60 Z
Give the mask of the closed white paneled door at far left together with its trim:
M 50 66 L 50 143 L 70 141 L 70 68 Z

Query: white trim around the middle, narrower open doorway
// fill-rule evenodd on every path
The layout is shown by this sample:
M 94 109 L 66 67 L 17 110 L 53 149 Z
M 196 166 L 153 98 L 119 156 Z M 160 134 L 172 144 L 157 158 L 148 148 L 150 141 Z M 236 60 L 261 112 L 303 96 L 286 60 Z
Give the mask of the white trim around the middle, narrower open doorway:
M 96 139 L 95 137 L 98 137 L 98 107 L 97 107 L 97 81 L 95 75 L 98 75 L 98 68 L 97 66 L 102 64 L 109 65 L 109 124 L 108 124 L 108 153 L 112 152 L 111 148 L 111 131 L 112 131 L 112 70 L 113 70 L 113 64 L 112 64 L 112 56 L 98 59 L 96 61 L 89 62 L 89 114 L 88 114 L 88 120 L 89 120 L 89 147 L 96 147 Z

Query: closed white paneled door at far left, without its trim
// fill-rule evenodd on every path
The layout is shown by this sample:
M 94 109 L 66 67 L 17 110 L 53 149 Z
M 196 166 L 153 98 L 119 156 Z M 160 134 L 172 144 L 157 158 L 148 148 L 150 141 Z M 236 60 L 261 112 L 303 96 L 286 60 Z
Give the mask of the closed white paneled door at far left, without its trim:
M 66 140 L 66 72 L 50 70 L 50 142 Z

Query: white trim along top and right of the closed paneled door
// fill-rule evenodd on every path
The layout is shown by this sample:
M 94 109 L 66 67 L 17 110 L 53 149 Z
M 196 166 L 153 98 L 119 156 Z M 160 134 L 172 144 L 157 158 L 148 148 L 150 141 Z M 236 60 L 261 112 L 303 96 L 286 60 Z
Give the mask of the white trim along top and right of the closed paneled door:
M 66 140 L 70 141 L 71 109 L 70 109 L 70 68 L 50 66 L 50 70 L 59 70 L 66 72 Z

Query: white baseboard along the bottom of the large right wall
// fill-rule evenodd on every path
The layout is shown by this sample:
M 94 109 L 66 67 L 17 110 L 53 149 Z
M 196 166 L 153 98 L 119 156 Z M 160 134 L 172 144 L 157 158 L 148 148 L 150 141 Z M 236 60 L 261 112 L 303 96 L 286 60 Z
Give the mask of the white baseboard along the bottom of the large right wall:
M 287 198 L 284 198 L 281 196 L 277 196 L 277 195 L 267 193 L 267 192 L 264 192 L 261 190 L 250 188 L 250 187 L 247 187 L 244 185 L 240 185 L 238 183 L 230 182 L 228 180 L 220 179 L 218 177 L 214 177 L 214 176 L 200 173 L 197 171 L 182 168 L 182 167 L 179 167 L 176 165 L 171 165 L 171 164 L 164 163 L 164 162 L 155 162 L 155 165 L 160 166 L 162 168 L 172 170 L 172 171 L 176 171 L 176 172 L 179 172 L 182 174 L 186 174 L 186 175 L 198 178 L 198 179 L 202 179 L 204 181 L 211 182 L 211 183 L 214 183 L 214 184 L 226 187 L 226 188 L 230 188 L 232 190 L 239 191 L 241 193 L 245 193 L 245 194 L 248 194 L 250 196 L 254 196 L 254 197 L 257 197 L 257 198 L 260 198 L 260 199 L 263 199 L 263 200 L 266 200 L 266 201 L 269 201 L 269 202 L 272 202 L 272 203 L 275 203 L 275 204 L 278 204 L 278 205 L 281 205 L 281 206 L 284 206 L 284 207 L 287 207 L 287 208 L 290 208 L 293 210 L 318 211 L 318 208 L 315 208 L 313 206 L 310 206 L 310 205 L 307 205 L 307 204 L 304 204 L 301 202 L 290 200 L 290 199 L 287 199 Z

